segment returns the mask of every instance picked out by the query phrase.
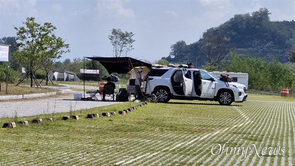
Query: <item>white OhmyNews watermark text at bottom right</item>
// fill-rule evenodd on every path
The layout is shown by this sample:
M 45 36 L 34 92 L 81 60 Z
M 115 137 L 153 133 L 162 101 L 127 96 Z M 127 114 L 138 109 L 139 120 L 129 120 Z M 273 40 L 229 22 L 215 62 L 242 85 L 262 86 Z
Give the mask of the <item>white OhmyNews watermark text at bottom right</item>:
M 265 155 L 284 155 L 285 154 L 285 150 L 286 147 L 272 147 L 272 146 L 265 146 L 263 147 L 263 143 L 261 142 L 259 147 L 257 147 L 257 145 L 255 143 L 251 144 L 248 147 L 229 147 L 226 144 L 228 144 L 229 142 L 225 142 L 223 145 L 217 143 L 214 144 L 211 147 L 211 154 L 213 156 L 216 155 L 242 155 L 243 159 L 240 159 L 239 161 L 244 161 L 246 159 L 247 156 L 251 156 L 252 154 L 256 155 L 259 158 L 264 158 Z

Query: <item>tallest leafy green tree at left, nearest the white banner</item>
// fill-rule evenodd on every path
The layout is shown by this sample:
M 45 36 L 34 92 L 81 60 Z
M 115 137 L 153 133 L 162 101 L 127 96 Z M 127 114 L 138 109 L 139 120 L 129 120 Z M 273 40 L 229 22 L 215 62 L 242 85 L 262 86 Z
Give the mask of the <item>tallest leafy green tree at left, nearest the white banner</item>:
M 14 56 L 21 66 L 27 69 L 32 87 L 35 80 L 33 72 L 43 66 L 46 59 L 55 58 L 52 50 L 59 50 L 65 45 L 54 45 L 58 42 L 57 39 L 61 38 L 55 36 L 54 30 L 57 28 L 51 23 L 41 25 L 35 22 L 34 17 L 28 17 L 23 24 L 26 27 L 14 27 L 18 41 L 18 50 L 14 52 Z

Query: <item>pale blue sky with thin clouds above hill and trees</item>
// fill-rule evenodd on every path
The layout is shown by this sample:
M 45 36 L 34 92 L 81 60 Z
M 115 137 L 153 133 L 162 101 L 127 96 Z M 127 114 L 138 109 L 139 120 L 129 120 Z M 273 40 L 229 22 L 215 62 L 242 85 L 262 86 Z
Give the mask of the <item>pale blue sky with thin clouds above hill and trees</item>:
M 69 44 L 65 59 L 113 57 L 112 29 L 132 32 L 128 56 L 155 62 L 169 56 L 171 46 L 198 41 L 207 29 L 236 14 L 267 8 L 271 21 L 295 20 L 295 0 L 0 0 L 0 38 L 16 36 L 14 26 L 27 17 L 52 23 Z

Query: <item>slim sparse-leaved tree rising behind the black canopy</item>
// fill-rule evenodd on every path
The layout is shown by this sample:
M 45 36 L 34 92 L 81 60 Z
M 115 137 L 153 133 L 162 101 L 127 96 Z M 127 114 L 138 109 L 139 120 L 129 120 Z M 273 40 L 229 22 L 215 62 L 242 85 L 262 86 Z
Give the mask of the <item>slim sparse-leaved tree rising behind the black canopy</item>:
M 112 34 L 109 35 L 109 39 L 114 47 L 113 49 L 113 56 L 114 57 L 126 57 L 131 50 L 133 50 L 132 43 L 135 41 L 132 39 L 133 33 L 126 32 L 123 33 L 120 29 L 113 29 Z M 123 55 L 122 55 L 123 54 Z

